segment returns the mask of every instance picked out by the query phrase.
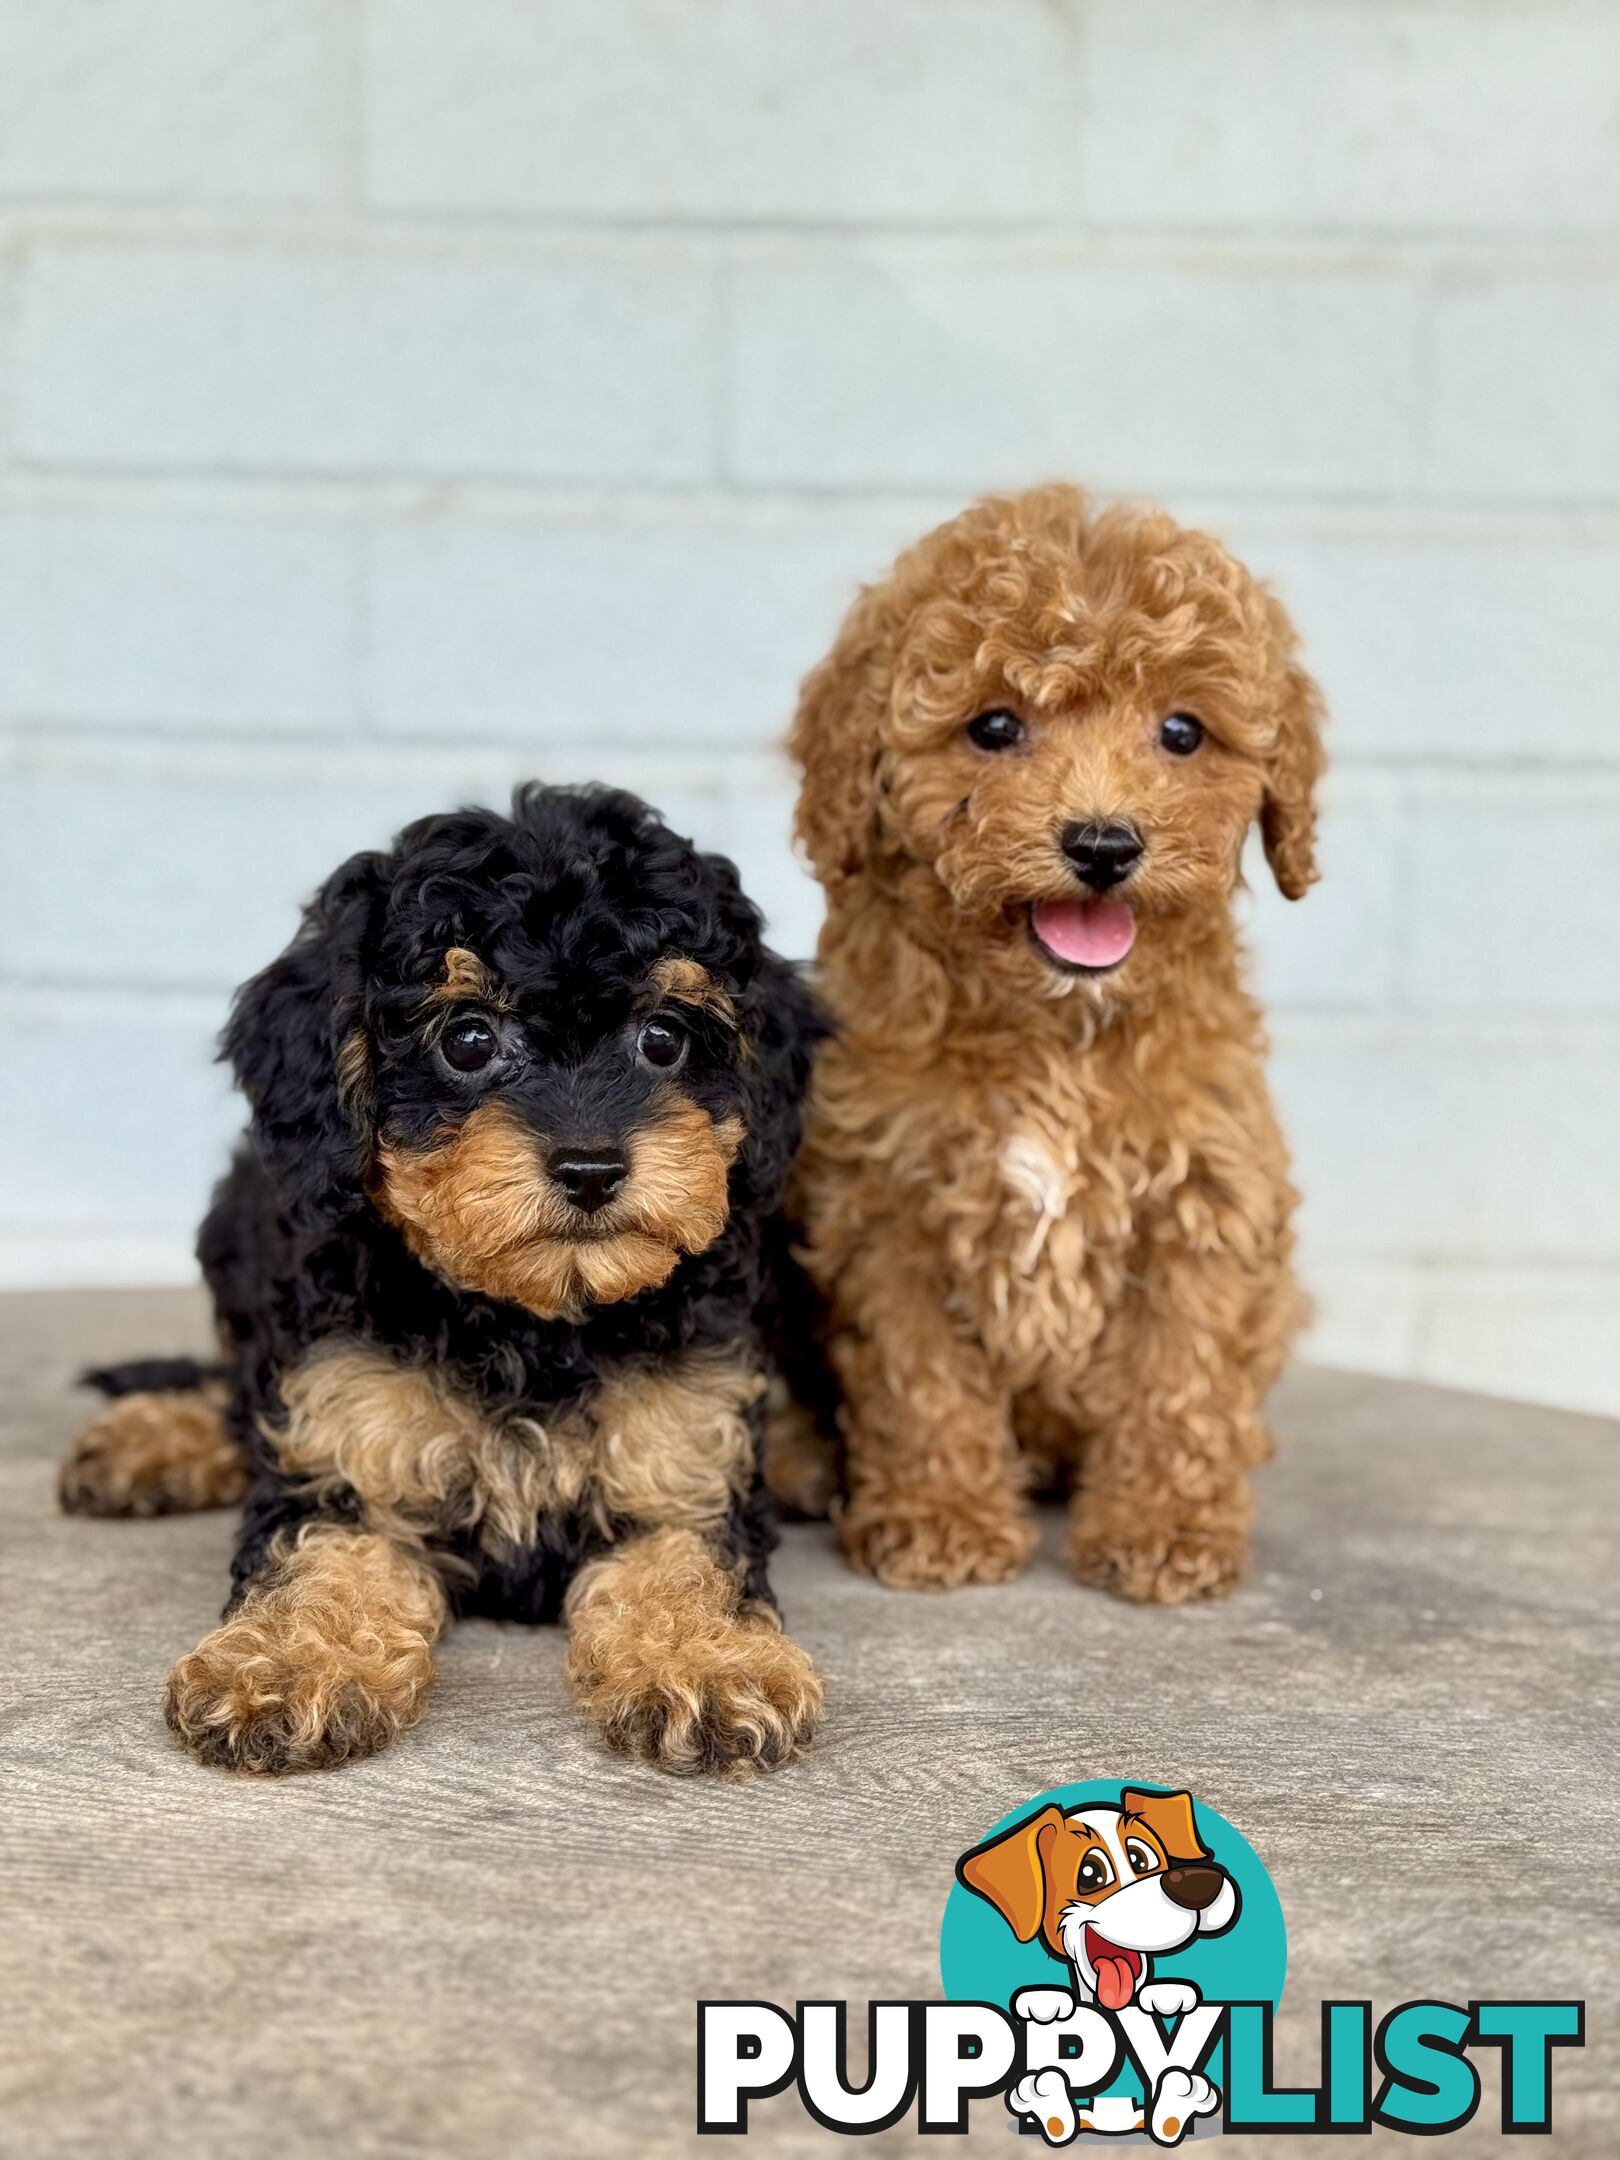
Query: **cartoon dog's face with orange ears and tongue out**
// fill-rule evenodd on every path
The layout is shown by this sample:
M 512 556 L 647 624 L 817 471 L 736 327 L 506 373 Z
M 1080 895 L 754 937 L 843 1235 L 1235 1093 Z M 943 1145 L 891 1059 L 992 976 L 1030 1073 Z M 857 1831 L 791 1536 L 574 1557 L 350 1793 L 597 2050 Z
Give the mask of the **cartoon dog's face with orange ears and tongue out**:
M 1106 2011 L 1125 2009 L 1149 1959 L 1238 1918 L 1238 1886 L 1199 1838 L 1188 1793 L 1125 1788 L 1119 1806 L 1041 1808 L 963 1853 L 957 1875 L 1020 1942 L 1074 1966 Z

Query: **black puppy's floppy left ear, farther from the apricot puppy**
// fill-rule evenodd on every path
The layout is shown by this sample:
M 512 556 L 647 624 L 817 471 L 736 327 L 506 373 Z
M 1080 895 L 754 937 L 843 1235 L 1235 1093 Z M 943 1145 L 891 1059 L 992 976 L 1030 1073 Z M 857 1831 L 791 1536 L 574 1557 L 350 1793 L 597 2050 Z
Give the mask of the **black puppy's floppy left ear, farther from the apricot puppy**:
M 283 1205 L 330 1227 L 365 1199 L 372 1058 L 365 946 L 384 855 L 354 855 L 305 909 L 281 959 L 235 994 L 220 1037 L 253 1110 L 253 1147 Z

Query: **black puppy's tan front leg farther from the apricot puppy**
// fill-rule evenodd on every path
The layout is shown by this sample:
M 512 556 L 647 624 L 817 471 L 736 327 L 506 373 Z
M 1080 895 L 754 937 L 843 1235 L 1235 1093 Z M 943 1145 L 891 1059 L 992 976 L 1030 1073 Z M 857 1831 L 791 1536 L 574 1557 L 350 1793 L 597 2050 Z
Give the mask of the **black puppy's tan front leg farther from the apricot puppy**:
M 227 1769 L 374 1754 L 421 1717 L 445 1611 L 443 1583 L 417 1553 L 374 1531 L 309 1527 L 181 1657 L 164 1715 Z

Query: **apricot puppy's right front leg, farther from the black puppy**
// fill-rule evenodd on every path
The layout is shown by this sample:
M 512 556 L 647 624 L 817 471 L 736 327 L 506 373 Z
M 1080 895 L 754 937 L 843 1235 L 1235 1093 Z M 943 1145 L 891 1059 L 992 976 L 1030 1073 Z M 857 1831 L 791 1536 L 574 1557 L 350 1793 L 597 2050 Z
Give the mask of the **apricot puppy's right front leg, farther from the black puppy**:
M 1084 1378 L 1091 1439 L 1069 1521 L 1084 1583 L 1153 1605 L 1225 1596 L 1248 1568 L 1248 1471 L 1270 1454 L 1246 1315 L 1255 1283 L 1225 1255 L 1149 1259 Z

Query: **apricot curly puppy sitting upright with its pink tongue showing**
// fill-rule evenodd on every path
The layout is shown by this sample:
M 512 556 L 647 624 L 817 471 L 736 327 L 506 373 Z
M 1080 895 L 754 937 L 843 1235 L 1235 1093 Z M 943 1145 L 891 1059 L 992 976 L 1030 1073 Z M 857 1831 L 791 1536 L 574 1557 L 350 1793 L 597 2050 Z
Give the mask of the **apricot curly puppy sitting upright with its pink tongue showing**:
M 1231 899 L 1255 821 L 1313 881 L 1320 721 L 1242 564 L 1058 486 L 929 534 L 806 680 L 838 1037 L 797 1207 L 886 1583 L 1015 1575 L 1032 1462 L 1082 1581 L 1242 1577 L 1300 1300 Z

